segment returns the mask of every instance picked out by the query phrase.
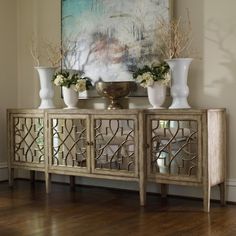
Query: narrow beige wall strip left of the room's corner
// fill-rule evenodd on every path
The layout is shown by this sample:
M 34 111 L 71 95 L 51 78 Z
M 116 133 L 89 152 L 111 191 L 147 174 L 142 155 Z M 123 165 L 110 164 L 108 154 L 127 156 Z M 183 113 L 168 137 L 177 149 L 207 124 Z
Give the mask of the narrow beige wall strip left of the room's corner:
M 16 107 L 16 1 L 0 0 L 0 167 L 6 160 L 6 108 Z

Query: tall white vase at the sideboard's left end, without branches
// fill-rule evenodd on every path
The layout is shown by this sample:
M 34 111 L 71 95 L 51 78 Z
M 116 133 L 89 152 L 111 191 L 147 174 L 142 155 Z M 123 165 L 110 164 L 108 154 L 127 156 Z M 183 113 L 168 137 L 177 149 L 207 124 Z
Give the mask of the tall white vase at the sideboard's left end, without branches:
M 53 74 L 56 71 L 54 67 L 35 67 L 39 74 L 40 91 L 39 97 L 41 99 L 39 109 L 55 108 L 53 104 L 54 89 L 52 84 Z

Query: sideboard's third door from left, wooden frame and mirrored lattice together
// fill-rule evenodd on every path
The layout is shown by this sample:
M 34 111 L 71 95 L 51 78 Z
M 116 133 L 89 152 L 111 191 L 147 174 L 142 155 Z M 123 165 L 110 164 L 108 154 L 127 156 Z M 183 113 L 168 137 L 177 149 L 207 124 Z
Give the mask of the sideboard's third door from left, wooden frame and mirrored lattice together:
M 137 117 L 95 117 L 92 130 L 93 172 L 137 175 Z

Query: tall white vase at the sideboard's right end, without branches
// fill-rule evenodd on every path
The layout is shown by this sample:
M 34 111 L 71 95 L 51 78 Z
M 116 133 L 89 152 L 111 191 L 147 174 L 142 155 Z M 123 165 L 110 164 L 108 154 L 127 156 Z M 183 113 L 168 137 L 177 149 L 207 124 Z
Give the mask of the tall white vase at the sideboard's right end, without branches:
M 188 71 L 192 58 L 175 58 L 166 60 L 171 70 L 171 97 L 173 98 L 170 109 L 190 108 L 188 104 Z

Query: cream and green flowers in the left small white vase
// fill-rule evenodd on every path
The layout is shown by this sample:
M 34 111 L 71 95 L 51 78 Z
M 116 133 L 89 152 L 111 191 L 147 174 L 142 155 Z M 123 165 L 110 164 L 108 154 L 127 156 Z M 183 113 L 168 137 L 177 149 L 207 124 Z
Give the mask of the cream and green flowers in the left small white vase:
M 67 70 L 60 70 L 54 74 L 53 83 L 56 86 L 72 87 L 76 92 L 84 92 L 92 87 L 91 79 L 84 76 L 81 71 L 70 73 Z

